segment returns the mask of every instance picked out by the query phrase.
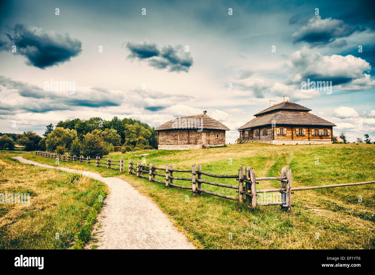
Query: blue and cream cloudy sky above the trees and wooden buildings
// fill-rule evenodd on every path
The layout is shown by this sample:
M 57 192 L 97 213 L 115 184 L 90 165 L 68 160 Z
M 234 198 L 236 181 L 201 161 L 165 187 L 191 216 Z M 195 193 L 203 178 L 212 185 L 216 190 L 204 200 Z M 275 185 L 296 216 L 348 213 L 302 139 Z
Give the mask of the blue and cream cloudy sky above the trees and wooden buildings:
M 0 132 L 98 116 L 157 127 L 207 110 L 234 143 L 289 95 L 334 135 L 375 141 L 374 1 L 0 3 Z

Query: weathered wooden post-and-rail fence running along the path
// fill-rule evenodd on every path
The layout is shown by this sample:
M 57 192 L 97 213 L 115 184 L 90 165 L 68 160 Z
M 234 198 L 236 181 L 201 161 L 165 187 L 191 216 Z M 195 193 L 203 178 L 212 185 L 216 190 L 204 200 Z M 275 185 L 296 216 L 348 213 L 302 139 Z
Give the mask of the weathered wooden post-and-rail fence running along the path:
M 35 151 L 35 155 L 43 156 L 45 158 L 56 159 L 63 162 L 79 162 L 86 163 L 90 165 L 95 163 L 96 167 L 103 167 L 107 169 L 117 169 L 120 172 L 124 172 L 124 158 L 120 158 L 119 161 L 113 161 L 110 157 L 107 159 L 101 159 L 99 156 L 94 159 L 90 157 L 84 158 L 83 156 L 65 156 L 57 155 L 55 153 L 40 152 Z M 101 165 L 105 164 L 105 166 Z M 112 167 L 118 166 L 118 168 Z M 245 170 L 245 171 L 244 171 Z M 181 189 L 192 190 L 193 196 L 201 195 L 205 193 L 208 195 L 217 196 L 224 199 L 230 199 L 233 201 L 239 201 L 241 203 L 246 203 L 250 208 L 255 208 L 258 205 L 280 205 L 285 211 L 290 211 L 294 206 L 292 204 L 292 194 L 293 191 L 299 190 L 309 190 L 309 189 L 320 189 L 320 188 L 331 188 L 331 187 L 341 187 L 341 186 L 354 186 L 362 184 L 371 184 L 375 181 L 363 181 L 358 183 L 343 183 L 343 184 L 331 184 L 331 185 L 320 185 L 320 186 L 306 186 L 306 187 L 294 187 L 292 188 L 292 171 L 289 167 L 284 167 L 281 169 L 281 175 L 279 177 L 255 177 L 255 170 L 252 167 L 241 166 L 238 169 L 238 174 L 236 175 L 215 175 L 208 172 L 202 171 L 200 164 L 193 164 L 192 169 L 174 169 L 173 164 L 167 164 L 165 167 L 156 167 L 155 162 L 149 165 L 141 164 L 139 161 L 135 163 L 133 159 L 129 159 L 128 164 L 128 174 L 136 175 L 137 177 L 147 178 L 149 182 L 155 181 L 157 183 L 165 184 L 166 187 L 177 187 Z M 186 173 L 186 177 L 175 177 L 173 172 Z M 245 172 L 245 173 L 244 173 Z M 236 184 L 223 184 L 214 181 L 202 180 L 202 175 L 212 177 L 212 178 L 232 178 L 238 181 Z M 156 178 L 156 176 L 158 178 Z M 281 182 L 281 188 L 277 189 L 257 189 L 258 181 L 261 180 L 277 180 Z M 182 186 L 176 184 L 176 181 L 189 181 L 190 186 Z M 238 196 L 228 196 L 215 192 L 211 192 L 203 189 L 202 184 L 209 184 L 214 186 L 220 186 L 229 189 L 236 189 Z M 280 193 L 279 202 L 257 202 L 258 193 L 269 193 L 277 192 Z

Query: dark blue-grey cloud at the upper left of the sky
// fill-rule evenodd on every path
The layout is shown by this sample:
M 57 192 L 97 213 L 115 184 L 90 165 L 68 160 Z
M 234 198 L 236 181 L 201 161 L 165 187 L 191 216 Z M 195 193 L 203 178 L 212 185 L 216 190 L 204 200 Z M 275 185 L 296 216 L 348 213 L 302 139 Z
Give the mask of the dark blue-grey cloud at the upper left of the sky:
M 8 28 L 5 33 L 8 40 L 1 48 L 10 51 L 16 46 L 16 54 L 27 58 L 27 65 L 47 68 L 70 61 L 82 51 L 80 40 L 72 38 L 68 33 L 57 31 L 45 33 L 41 28 L 28 28 L 17 24 Z

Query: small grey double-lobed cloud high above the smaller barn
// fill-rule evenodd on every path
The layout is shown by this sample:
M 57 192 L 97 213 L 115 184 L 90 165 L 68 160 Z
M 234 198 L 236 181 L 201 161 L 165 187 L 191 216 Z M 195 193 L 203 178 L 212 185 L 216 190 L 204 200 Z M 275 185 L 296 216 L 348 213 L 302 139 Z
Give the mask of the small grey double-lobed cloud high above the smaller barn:
M 147 59 L 148 65 L 158 70 L 168 68 L 170 72 L 188 72 L 193 65 L 193 58 L 190 52 L 185 52 L 182 45 L 174 47 L 170 45 L 163 46 L 160 51 L 155 43 L 127 42 L 126 48 L 130 51 L 127 58 Z

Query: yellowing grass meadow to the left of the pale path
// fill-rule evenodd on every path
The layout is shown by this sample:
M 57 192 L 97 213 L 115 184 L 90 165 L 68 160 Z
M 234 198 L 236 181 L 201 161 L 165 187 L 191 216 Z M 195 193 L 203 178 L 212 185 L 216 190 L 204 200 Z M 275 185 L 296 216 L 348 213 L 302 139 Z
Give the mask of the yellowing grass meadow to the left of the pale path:
M 11 158 L 19 155 L 25 152 L 0 152 L 0 193 L 29 193 L 30 204 L 0 204 L 0 249 L 82 248 L 107 186 Z

